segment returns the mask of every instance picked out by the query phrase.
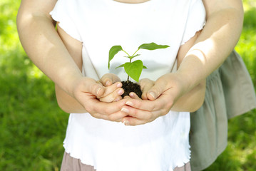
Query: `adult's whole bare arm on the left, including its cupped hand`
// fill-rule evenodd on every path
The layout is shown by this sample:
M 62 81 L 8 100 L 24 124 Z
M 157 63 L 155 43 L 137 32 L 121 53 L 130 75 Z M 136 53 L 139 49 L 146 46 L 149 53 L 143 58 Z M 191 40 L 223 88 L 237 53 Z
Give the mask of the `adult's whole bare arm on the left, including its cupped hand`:
M 17 28 L 24 50 L 36 66 L 56 83 L 58 90 L 78 100 L 84 111 L 87 110 L 97 118 L 120 113 L 115 103 L 101 103 L 95 99 L 86 101 L 84 92 L 101 96 L 105 89 L 96 81 L 82 76 L 77 61 L 73 60 L 58 36 L 56 22 L 49 14 L 55 4 L 56 0 L 21 1 Z

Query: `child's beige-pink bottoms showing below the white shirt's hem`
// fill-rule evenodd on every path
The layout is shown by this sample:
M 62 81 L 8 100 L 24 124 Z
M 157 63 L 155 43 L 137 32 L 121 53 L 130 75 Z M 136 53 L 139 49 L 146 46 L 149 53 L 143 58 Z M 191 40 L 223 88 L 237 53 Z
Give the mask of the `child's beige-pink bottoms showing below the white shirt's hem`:
M 68 153 L 64 153 L 61 164 L 61 171 L 96 171 L 93 166 L 81 163 L 81 160 L 71 157 Z M 122 170 L 120 170 L 122 171 Z M 183 167 L 175 167 L 174 171 L 191 171 L 190 162 Z

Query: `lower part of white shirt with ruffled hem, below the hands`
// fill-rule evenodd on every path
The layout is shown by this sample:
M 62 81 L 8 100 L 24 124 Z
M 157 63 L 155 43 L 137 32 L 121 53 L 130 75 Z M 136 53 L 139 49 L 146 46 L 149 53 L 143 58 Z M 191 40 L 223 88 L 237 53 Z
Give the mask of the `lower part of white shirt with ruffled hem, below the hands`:
M 88 113 L 71 114 L 63 147 L 71 157 L 80 159 L 83 164 L 91 165 L 97 171 L 172 171 L 175 167 L 182 167 L 190 161 L 188 142 L 190 124 L 187 122 L 190 120 L 189 113 L 174 114 L 173 117 L 177 115 L 180 117 L 175 120 L 174 125 L 170 124 L 173 133 L 166 132 L 165 130 L 170 128 L 165 127 L 159 129 L 160 135 L 156 133 L 150 135 L 152 133 L 150 128 L 156 128 L 154 125 L 159 125 L 165 120 L 172 120 L 170 114 L 154 120 L 153 123 L 138 125 L 136 126 L 138 129 L 127 127 L 122 123 L 113 123 L 113 128 L 107 129 L 104 123 L 110 121 L 98 120 Z M 85 118 L 98 120 L 99 127 L 103 130 L 99 131 L 97 128 L 95 131 L 84 130 L 76 120 Z M 179 126 L 180 122 L 186 124 L 185 129 Z M 112 134 L 116 129 L 126 130 L 124 133 L 127 136 L 118 131 L 116 138 L 116 133 Z M 146 131 L 140 134 L 140 131 L 137 131 L 140 129 Z M 141 165 L 141 163 L 145 164 Z

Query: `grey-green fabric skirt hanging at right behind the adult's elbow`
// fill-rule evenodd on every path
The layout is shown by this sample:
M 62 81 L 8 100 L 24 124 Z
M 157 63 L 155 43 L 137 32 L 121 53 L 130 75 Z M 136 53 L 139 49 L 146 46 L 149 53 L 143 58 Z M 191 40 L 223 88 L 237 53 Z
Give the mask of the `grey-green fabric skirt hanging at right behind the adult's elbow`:
M 255 89 L 242 58 L 232 51 L 206 81 L 205 102 L 190 117 L 191 169 L 204 170 L 227 146 L 228 119 L 256 108 Z

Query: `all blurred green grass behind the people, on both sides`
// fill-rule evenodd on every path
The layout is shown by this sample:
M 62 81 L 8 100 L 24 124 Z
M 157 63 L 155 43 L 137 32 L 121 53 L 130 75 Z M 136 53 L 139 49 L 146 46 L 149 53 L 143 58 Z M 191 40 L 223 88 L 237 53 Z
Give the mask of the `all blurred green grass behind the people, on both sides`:
M 53 83 L 29 60 L 16 33 L 21 0 L 0 1 L 0 170 L 59 170 L 68 115 L 58 108 Z M 237 47 L 256 85 L 256 2 L 245 3 Z M 210 170 L 256 170 L 256 110 L 229 121 L 225 152 Z

